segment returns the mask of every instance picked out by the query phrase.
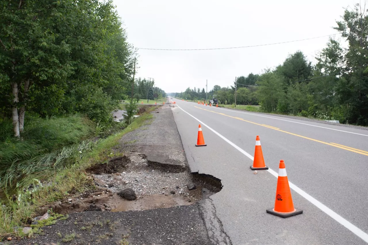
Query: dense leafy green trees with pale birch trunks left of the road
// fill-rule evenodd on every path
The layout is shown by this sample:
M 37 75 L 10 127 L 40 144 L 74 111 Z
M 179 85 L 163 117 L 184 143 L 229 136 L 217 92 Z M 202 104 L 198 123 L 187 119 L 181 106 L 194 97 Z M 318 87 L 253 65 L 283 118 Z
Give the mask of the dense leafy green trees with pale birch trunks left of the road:
M 112 0 L 1 1 L 0 29 L 0 121 L 16 137 L 27 115 L 81 113 L 110 125 L 131 95 L 138 55 Z M 136 97 L 152 97 L 145 79 L 135 82 Z

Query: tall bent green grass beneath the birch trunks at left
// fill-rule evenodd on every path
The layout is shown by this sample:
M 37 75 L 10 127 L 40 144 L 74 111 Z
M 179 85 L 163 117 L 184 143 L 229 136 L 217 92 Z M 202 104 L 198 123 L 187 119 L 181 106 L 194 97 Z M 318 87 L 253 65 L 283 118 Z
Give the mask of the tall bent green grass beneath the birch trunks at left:
M 83 141 L 93 136 L 95 129 L 95 123 L 80 115 L 28 117 L 22 140 L 17 140 L 11 135 L 11 121 L 1 121 L 0 188 L 12 187 L 15 182 L 19 187 L 25 184 L 22 178 L 54 169 L 81 149 L 91 148 L 91 143 Z

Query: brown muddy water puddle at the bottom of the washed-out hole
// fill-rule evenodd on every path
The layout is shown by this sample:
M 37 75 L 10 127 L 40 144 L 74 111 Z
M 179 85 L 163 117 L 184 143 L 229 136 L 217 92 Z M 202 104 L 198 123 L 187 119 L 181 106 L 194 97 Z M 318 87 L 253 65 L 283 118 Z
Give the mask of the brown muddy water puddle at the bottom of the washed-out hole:
M 144 196 L 137 200 L 125 200 L 121 198 L 112 199 L 108 202 L 108 205 L 112 207 L 112 212 L 124 212 L 128 210 L 148 210 L 148 209 L 158 209 L 167 208 L 173 206 L 191 205 L 192 202 L 184 200 L 180 196 L 163 194 L 155 194 L 151 196 Z

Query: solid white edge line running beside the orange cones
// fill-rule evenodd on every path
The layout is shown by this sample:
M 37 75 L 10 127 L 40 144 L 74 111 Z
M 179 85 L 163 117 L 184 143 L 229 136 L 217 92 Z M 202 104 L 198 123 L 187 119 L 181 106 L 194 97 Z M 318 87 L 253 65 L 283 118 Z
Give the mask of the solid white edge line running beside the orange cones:
M 221 134 L 219 134 L 218 132 L 216 132 L 215 130 L 213 130 L 211 127 L 209 127 L 208 125 L 206 125 L 205 123 L 203 123 L 202 121 L 200 121 L 198 118 L 192 116 L 187 111 L 183 110 L 180 106 L 178 106 L 178 107 L 182 111 L 184 111 L 185 113 L 187 113 L 189 116 L 191 116 L 192 118 L 194 118 L 195 120 L 197 120 L 201 125 L 207 127 L 209 130 L 211 130 L 212 132 L 214 132 L 216 135 L 218 135 L 224 141 L 226 141 L 227 143 L 229 143 L 235 149 L 237 149 L 238 151 L 240 151 L 241 153 L 243 153 L 249 159 L 251 159 L 252 161 L 254 160 L 254 157 L 253 156 L 251 156 L 249 153 L 245 152 L 239 146 L 237 146 L 233 142 L 229 141 L 227 138 L 225 138 L 224 136 L 222 136 Z M 273 176 L 275 176 L 276 178 L 278 177 L 278 174 L 275 171 L 273 171 L 271 168 L 269 168 L 267 171 L 270 174 L 272 174 Z M 365 233 L 364 231 L 360 230 L 358 227 L 356 227 L 353 224 L 351 224 L 349 221 L 347 221 L 346 219 L 344 219 L 343 217 L 341 217 L 339 214 L 337 214 L 334 211 L 332 211 L 331 209 L 329 209 L 323 203 L 319 202 L 317 199 L 315 199 L 314 197 L 312 197 L 311 195 L 309 195 L 308 193 L 306 193 L 305 191 L 303 191 L 302 189 L 300 189 L 299 187 L 297 187 L 296 185 L 294 185 L 290 181 L 289 181 L 289 186 L 290 186 L 291 189 L 293 189 L 299 195 L 301 195 L 302 197 L 304 197 L 305 199 L 307 199 L 309 202 L 311 202 L 314 206 L 318 207 L 323 212 L 325 212 L 332 219 L 336 220 L 337 222 L 339 222 L 340 224 L 342 224 L 344 227 L 346 227 L 348 230 L 350 230 L 351 232 L 353 232 L 355 235 L 357 235 L 358 237 L 360 237 L 363 241 L 365 241 L 365 242 L 368 243 L 368 234 L 367 233 Z

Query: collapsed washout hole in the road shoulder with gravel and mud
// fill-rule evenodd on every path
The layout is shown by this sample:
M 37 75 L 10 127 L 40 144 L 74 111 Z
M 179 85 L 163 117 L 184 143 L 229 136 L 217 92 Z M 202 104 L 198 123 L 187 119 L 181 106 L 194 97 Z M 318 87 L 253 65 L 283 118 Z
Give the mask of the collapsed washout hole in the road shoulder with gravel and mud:
M 137 152 L 111 157 L 87 168 L 86 173 L 90 175 L 90 190 L 70 193 L 43 209 L 67 214 L 168 208 L 192 205 L 222 189 L 221 180 L 212 175 L 191 173 L 186 165 L 152 162 Z

